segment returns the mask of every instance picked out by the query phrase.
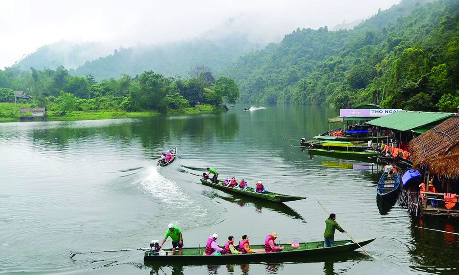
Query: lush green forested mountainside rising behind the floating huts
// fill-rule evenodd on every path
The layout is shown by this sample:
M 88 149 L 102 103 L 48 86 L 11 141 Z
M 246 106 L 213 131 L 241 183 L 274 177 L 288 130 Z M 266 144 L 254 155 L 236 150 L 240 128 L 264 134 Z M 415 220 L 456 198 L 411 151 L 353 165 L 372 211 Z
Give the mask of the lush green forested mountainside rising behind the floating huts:
M 251 102 L 459 104 L 459 1 L 403 0 L 353 30 L 297 29 L 227 71 Z

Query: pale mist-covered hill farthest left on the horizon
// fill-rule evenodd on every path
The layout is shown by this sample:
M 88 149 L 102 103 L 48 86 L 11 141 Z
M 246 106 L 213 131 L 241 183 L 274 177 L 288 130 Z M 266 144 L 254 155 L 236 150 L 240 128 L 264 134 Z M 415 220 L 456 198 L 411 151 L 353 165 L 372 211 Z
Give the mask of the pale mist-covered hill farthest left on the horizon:
M 24 56 L 12 67 L 17 67 L 25 71 L 28 71 L 30 67 L 34 67 L 37 70 L 56 68 L 58 66 L 64 66 L 67 69 L 75 69 L 88 60 L 106 56 L 112 51 L 113 50 L 110 50 L 101 42 L 75 44 L 61 40 L 50 45 L 39 47 L 37 51 L 28 56 Z

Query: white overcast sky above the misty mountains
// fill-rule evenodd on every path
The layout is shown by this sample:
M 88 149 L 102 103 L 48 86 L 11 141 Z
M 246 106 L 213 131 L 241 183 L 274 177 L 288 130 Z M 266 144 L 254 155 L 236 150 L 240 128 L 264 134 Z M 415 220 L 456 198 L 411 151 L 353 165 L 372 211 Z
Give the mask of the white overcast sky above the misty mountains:
M 367 18 L 399 1 L 0 0 L 0 68 L 61 39 L 128 47 L 231 25 L 255 39 L 275 40 L 298 27 L 331 29 L 343 20 Z

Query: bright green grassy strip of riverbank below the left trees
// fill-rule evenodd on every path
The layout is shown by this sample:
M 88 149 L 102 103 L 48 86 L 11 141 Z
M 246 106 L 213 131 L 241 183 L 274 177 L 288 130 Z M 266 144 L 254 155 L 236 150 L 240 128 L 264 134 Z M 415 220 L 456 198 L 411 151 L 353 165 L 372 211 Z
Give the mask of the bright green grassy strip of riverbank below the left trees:
M 0 122 L 16 122 L 20 121 L 22 115 L 30 115 L 27 113 L 20 114 L 19 108 L 30 108 L 31 104 L 22 103 L 14 106 L 14 103 L 0 103 Z M 168 115 L 194 115 L 201 113 L 210 113 L 221 110 L 210 104 L 196 105 L 195 107 L 186 107 L 183 110 L 169 111 Z M 222 109 L 223 110 L 223 109 Z M 60 115 L 58 111 L 48 110 L 46 112 L 46 120 L 48 121 L 68 121 L 68 120 L 91 120 L 91 119 L 113 119 L 113 118 L 142 118 L 161 115 L 157 111 L 146 112 L 126 112 L 126 111 L 72 111 L 65 115 Z

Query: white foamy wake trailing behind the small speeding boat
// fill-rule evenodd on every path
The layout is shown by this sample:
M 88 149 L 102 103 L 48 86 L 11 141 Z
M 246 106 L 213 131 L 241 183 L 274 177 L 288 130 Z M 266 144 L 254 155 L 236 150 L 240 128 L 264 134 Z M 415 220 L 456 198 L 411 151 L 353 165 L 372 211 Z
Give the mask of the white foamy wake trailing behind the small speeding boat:
M 175 181 L 160 175 L 156 166 L 149 168 L 147 173 L 148 176 L 142 180 L 140 185 L 152 196 L 167 204 L 162 213 L 166 212 L 166 214 L 174 214 L 174 216 L 185 213 L 187 217 L 204 217 L 207 215 L 207 210 L 185 194 Z M 184 211 L 180 211 L 180 209 L 184 209 Z

